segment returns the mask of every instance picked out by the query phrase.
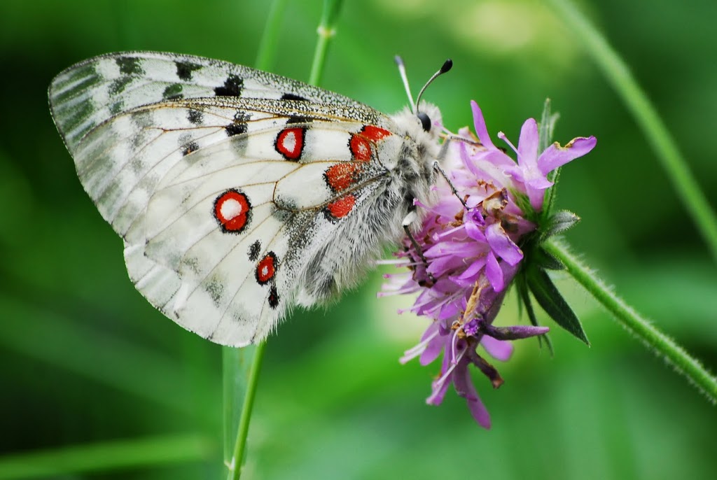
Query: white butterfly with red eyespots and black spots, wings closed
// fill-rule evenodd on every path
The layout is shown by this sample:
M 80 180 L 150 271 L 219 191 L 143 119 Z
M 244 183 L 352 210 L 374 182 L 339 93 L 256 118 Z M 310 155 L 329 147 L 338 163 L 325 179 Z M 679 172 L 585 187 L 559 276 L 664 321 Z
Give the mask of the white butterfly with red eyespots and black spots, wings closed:
M 249 67 L 122 52 L 65 69 L 49 105 L 138 291 L 244 346 L 356 285 L 419 221 L 442 145 L 421 94 L 389 116 Z

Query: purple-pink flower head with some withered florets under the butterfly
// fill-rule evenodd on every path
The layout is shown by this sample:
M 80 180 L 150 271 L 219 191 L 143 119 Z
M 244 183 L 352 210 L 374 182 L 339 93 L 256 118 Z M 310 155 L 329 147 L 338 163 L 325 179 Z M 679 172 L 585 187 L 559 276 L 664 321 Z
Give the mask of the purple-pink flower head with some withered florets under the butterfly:
M 546 327 L 494 327 L 506 289 L 516 276 L 521 243 L 535 231 L 535 213 L 553 183 L 548 173 L 588 153 L 594 137 L 576 138 L 565 147 L 554 143 L 538 155 L 538 124 L 523 124 L 518 148 L 499 133 L 516 152 L 518 161 L 493 145 L 478 104 L 471 102 L 475 132 L 460 130 L 463 139 L 448 147 L 445 170 L 457 195 L 445 181 L 436 187 L 439 200 L 427 211 L 414 239 L 404 239 L 396 256 L 409 272 L 388 274 L 379 296 L 418 293 L 411 311 L 432 319 L 419 344 L 402 362 L 419 357 L 422 365 L 443 354 L 440 374 L 427 403 L 438 405 L 452 384 L 467 400 L 473 418 L 490 427 L 490 417 L 470 381 L 474 365 L 494 388 L 503 380 L 498 370 L 478 353 L 478 345 L 498 360 L 508 360 L 516 340 L 548 331 Z

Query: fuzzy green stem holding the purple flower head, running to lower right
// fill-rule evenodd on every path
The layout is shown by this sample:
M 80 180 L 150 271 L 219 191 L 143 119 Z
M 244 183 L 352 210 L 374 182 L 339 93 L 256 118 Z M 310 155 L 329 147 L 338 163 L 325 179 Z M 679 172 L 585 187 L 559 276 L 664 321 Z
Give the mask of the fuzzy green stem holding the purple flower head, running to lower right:
M 647 319 L 625 304 L 592 270 L 571 254 L 566 246 L 556 241 L 548 241 L 543 246 L 565 265 L 569 274 L 589 294 L 592 294 L 615 320 L 625 327 L 625 330 L 635 335 L 637 339 L 655 352 L 655 355 L 664 357 L 678 373 L 685 375 L 690 383 L 701 390 L 712 403 L 717 403 L 717 378 L 708 373 L 698 360 L 691 357 L 674 340 L 657 330 Z

